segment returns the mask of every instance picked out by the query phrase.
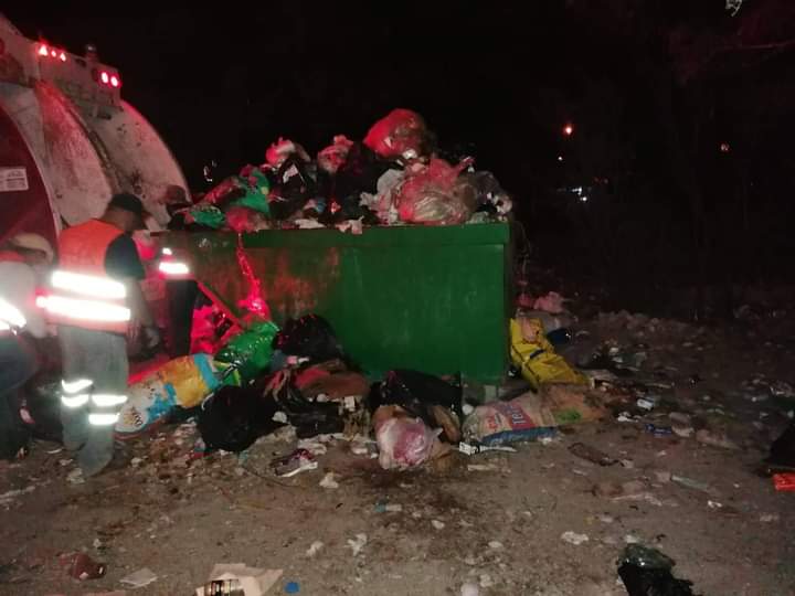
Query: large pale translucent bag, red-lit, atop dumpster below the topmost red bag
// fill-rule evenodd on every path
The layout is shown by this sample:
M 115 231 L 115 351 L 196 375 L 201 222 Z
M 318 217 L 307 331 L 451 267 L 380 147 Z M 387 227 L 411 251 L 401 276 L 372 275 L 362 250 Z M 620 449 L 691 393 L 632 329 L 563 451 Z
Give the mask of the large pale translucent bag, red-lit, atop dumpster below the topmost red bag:
M 451 166 L 443 159 L 432 159 L 427 167 L 406 173 L 396 200 L 400 220 L 406 223 L 458 225 L 475 212 L 475 190 L 458 184 L 458 174 L 468 166 Z

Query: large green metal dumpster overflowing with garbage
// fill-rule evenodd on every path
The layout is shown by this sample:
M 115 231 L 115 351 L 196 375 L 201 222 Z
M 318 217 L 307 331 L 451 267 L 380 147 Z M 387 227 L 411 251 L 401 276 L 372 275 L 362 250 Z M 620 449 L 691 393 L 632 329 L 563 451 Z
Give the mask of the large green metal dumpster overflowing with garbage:
M 373 377 L 391 369 L 462 372 L 483 383 L 508 362 L 508 224 L 169 233 L 195 279 L 231 313 L 251 280 L 274 320 L 319 313 Z

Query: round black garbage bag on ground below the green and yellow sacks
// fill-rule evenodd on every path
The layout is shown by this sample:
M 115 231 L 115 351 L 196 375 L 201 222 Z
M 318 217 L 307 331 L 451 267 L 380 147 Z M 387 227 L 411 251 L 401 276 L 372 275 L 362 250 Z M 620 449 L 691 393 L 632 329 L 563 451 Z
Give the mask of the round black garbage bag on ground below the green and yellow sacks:
M 200 408 L 199 432 L 210 450 L 243 451 L 282 426 L 273 419 L 276 412 L 262 384 L 224 386 Z

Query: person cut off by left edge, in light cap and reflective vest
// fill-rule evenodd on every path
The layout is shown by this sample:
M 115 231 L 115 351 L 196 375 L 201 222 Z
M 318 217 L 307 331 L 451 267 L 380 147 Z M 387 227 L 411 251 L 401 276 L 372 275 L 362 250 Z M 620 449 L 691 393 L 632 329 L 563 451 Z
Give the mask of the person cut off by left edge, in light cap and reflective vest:
M 39 369 L 30 341 L 46 334 L 35 307 L 38 270 L 52 260 L 50 243 L 38 234 L 19 234 L 0 251 L 0 457 L 24 451 L 30 429 L 20 416 L 23 386 Z

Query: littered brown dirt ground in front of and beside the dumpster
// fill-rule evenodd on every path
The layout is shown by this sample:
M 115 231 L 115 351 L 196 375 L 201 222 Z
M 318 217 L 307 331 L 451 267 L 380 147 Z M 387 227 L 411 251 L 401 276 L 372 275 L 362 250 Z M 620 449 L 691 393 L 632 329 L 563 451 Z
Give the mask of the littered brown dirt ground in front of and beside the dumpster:
M 268 594 L 296 582 L 309 595 L 458 595 L 465 583 L 485 596 L 621 595 L 617 561 L 630 541 L 675 558 L 695 594 L 795 594 L 795 493 L 756 473 L 795 408 L 765 385 L 795 383 L 792 322 L 586 321 L 563 351 L 571 362 L 614 340 L 640 364 L 638 380 L 674 385 L 642 422 L 610 416 L 515 454 L 456 455 L 411 472 L 383 471 L 331 441 L 317 470 L 277 479 L 268 462 L 295 447 L 284 432 L 241 456 L 191 461 L 197 430 L 187 424 L 136 443 L 132 467 L 73 483 L 68 454 L 39 443 L 0 472 L 0 594 L 188 595 L 214 564 L 245 563 L 283 570 Z M 746 384 L 759 375 L 766 381 Z M 695 430 L 724 433 L 736 449 L 647 432 L 645 423 L 669 426 L 671 412 L 689 414 Z M 576 441 L 622 461 L 581 459 L 568 449 Z M 339 488 L 319 486 L 328 471 Z M 639 483 L 618 498 L 594 491 L 629 481 Z M 388 503 L 402 510 L 384 512 Z M 587 540 L 572 544 L 565 532 Z M 354 555 L 358 534 L 367 542 Z M 316 541 L 322 547 L 309 556 Z M 105 577 L 67 577 L 59 555 L 74 551 L 106 563 Z M 152 584 L 120 583 L 141 567 L 157 575 Z

